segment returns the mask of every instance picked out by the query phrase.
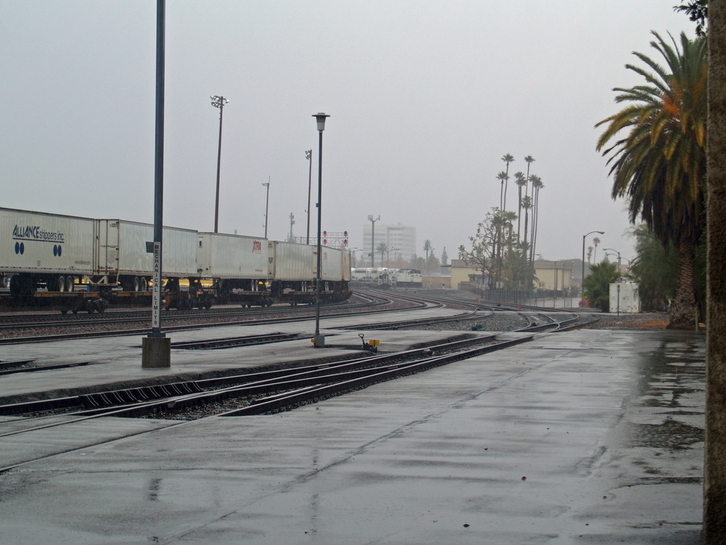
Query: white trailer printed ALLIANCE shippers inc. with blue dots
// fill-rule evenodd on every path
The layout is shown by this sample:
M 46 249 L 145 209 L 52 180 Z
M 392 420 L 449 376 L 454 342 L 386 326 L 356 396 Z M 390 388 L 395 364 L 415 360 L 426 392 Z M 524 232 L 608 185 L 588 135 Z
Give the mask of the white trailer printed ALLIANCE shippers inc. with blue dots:
M 0 272 L 90 274 L 91 218 L 0 208 Z

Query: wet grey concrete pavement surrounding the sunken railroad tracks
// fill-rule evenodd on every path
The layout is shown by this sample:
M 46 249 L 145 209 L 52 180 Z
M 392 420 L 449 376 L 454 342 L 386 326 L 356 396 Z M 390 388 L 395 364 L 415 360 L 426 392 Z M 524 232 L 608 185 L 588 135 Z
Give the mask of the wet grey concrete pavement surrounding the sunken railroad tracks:
M 536 334 L 267 416 L 106 417 L 15 435 L 23 419 L 0 417 L 0 467 L 12 467 L 0 473 L 0 541 L 698 544 L 705 339 L 658 327 L 664 316 L 600 315 L 588 329 Z M 336 329 L 344 322 L 322 327 L 339 344 L 357 341 Z M 203 335 L 242 330 L 269 326 Z M 365 333 L 381 350 L 451 335 Z M 3 360 L 89 365 L 1 376 L 1 391 L 128 383 L 324 351 L 306 339 L 174 352 L 172 369 L 144 371 L 139 345 L 139 336 L 121 336 L 2 347 Z M 37 387 L 21 384 L 30 381 Z

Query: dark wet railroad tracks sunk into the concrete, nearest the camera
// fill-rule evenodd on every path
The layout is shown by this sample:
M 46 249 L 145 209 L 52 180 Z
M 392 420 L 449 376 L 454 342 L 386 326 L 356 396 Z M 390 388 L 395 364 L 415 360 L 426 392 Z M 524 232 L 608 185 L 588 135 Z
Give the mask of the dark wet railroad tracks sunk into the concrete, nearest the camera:
M 158 429 L 183 424 L 183 421 L 171 422 L 169 419 L 192 418 L 189 416 L 190 411 L 200 412 L 200 418 L 208 418 L 212 415 L 246 416 L 285 411 L 303 404 L 314 403 L 316 400 L 362 389 L 371 384 L 396 379 L 399 376 L 419 373 L 457 360 L 502 350 L 529 341 L 537 331 L 567 328 L 576 320 L 576 316 L 566 314 L 556 317 L 547 316 L 547 320 L 545 320 L 547 323 L 537 323 L 539 320 L 533 318 L 529 321 L 529 325 L 521 330 L 525 335 L 513 340 L 502 341 L 497 339 L 496 334 L 469 332 L 449 339 L 448 342 L 431 344 L 428 347 L 376 355 L 364 350 L 365 347 L 362 345 L 359 347 L 359 353 L 338 361 L 325 360 L 295 368 L 256 371 L 211 379 L 89 392 L 49 400 L 0 405 L 0 414 L 5 416 L 0 422 L 0 437 L 27 435 L 28 440 L 31 440 L 30 437 L 35 439 L 38 434 L 41 434 L 39 437 L 45 437 L 43 434 L 46 433 L 46 430 L 58 427 L 73 429 L 74 424 L 108 416 L 160 416 L 164 420 L 160 421 L 158 427 L 155 428 Z M 269 336 L 267 339 L 262 337 L 217 339 L 213 342 L 206 341 L 202 344 L 187 344 L 186 346 L 179 343 L 176 347 L 205 350 L 252 342 L 281 342 L 295 338 L 295 336 L 287 336 L 286 339 L 285 336 L 279 334 Z M 121 428 L 123 429 L 123 427 Z M 56 434 L 53 437 L 59 436 Z M 120 437 L 102 440 L 100 443 L 108 443 L 118 438 Z M 52 444 L 44 442 L 42 456 L 16 454 L 12 463 L 7 463 L 6 467 L 0 467 L 0 472 L 14 469 L 36 459 L 44 459 L 89 446 L 89 444 L 78 446 L 82 442 L 83 440 L 79 439 L 76 446 L 70 447 L 64 440 L 51 442 Z M 94 439 L 91 444 L 100 443 Z M 18 456 L 27 458 L 19 460 Z

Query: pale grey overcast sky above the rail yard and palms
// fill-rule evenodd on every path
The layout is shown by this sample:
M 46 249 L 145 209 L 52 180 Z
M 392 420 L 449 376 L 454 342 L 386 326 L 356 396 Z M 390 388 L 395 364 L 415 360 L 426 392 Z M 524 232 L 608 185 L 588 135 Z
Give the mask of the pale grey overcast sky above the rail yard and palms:
M 174 1 L 166 6 L 164 223 L 306 233 L 317 112 L 322 227 L 360 247 L 369 214 L 417 230 L 449 259 L 510 177 L 544 183 L 537 253 L 569 259 L 582 235 L 633 257 L 622 201 L 595 151 L 597 121 L 650 31 L 694 35 L 677 0 Z M 153 222 L 155 11 L 147 1 L 0 2 L 0 206 Z M 516 186 L 510 183 L 514 189 Z M 515 209 L 510 188 L 508 209 Z M 313 198 L 314 203 L 314 198 Z M 317 213 L 312 206 L 311 231 Z M 590 246 L 592 235 L 588 238 Z

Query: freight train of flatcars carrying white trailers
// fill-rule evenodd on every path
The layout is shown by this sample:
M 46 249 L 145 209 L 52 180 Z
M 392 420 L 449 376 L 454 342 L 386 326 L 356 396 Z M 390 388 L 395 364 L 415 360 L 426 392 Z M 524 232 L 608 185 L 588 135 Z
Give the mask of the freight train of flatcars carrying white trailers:
M 150 295 L 153 225 L 0 208 L 0 237 L 0 280 L 15 301 L 52 294 L 70 310 L 103 310 Z M 317 246 L 163 227 L 162 247 L 165 307 L 315 301 Z M 347 299 L 350 254 L 324 247 L 320 268 L 321 301 Z

